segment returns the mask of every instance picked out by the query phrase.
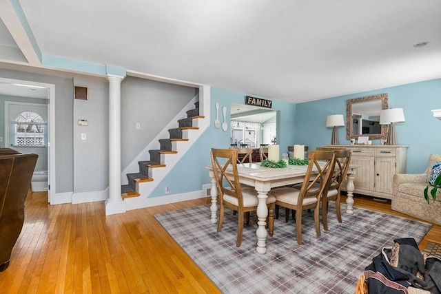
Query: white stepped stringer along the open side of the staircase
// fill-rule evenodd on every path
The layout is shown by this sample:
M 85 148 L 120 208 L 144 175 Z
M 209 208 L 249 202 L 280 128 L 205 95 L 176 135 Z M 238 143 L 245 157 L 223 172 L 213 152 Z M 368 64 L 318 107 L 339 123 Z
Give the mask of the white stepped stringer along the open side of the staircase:
M 124 200 L 127 210 L 152 206 L 151 202 L 147 201 L 149 196 L 163 181 L 167 174 L 172 171 L 176 163 L 181 160 L 183 156 L 185 156 L 187 151 L 192 147 L 192 145 L 194 145 L 196 140 L 205 132 L 205 130 L 208 129 L 210 124 L 209 99 L 209 86 L 201 87 L 199 90 L 199 115 L 204 116 L 204 118 L 194 118 L 192 120 L 193 127 L 198 127 L 198 129 L 183 129 L 182 138 L 186 138 L 188 140 L 172 141 L 172 150 L 177 151 L 177 153 L 161 154 L 161 164 L 165 165 L 165 167 L 155 167 L 152 169 L 149 168 L 148 176 L 149 178 L 153 178 L 153 181 L 136 183 L 136 191 L 140 194 L 140 196 L 134 198 L 126 198 Z

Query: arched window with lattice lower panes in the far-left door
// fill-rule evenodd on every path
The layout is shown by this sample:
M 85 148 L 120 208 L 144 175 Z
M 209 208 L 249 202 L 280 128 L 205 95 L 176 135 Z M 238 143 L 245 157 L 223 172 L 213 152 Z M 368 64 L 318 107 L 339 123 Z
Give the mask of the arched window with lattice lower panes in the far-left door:
M 21 147 L 45 146 L 46 122 L 36 112 L 17 114 L 13 122 L 14 145 Z

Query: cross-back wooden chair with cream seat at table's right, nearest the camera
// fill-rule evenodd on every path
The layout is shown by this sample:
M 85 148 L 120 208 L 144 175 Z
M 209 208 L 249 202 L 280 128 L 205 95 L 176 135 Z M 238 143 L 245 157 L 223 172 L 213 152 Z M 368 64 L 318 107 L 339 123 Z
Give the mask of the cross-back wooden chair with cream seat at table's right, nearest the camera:
M 320 198 L 333 172 L 334 151 L 309 151 L 309 165 L 300 190 L 293 187 L 273 189 L 268 194 L 276 198 L 276 205 L 296 211 L 296 238 L 302 244 L 302 211 L 314 209 L 316 233 L 320 236 Z

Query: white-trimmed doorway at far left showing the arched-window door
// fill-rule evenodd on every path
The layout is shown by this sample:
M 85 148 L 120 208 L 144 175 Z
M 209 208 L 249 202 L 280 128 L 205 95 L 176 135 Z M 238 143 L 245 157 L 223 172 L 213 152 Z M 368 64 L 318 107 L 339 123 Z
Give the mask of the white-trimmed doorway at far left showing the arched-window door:
M 34 187 L 48 189 L 48 202 L 55 195 L 55 85 L 35 81 L 0 78 L 4 111 L 4 147 L 39 155 Z M 47 178 L 47 185 L 44 183 Z

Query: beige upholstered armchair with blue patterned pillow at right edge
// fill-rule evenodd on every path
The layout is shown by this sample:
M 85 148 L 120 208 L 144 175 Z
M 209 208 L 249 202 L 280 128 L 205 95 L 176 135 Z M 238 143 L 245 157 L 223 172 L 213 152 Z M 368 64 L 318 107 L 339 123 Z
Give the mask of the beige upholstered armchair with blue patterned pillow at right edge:
M 424 189 L 429 185 L 429 176 L 435 162 L 441 162 L 441 155 L 429 156 L 429 167 L 424 174 L 396 174 L 393 176 L 392 209 L 409 216 L 441 225 L 441 193 L 435 202 L 424 199 Z

